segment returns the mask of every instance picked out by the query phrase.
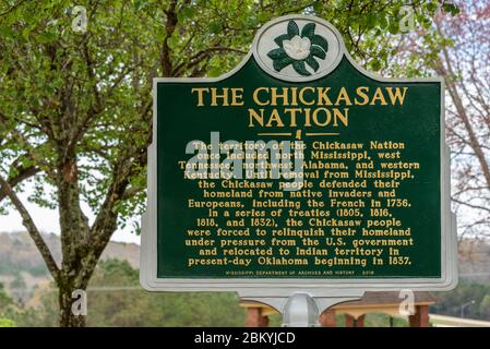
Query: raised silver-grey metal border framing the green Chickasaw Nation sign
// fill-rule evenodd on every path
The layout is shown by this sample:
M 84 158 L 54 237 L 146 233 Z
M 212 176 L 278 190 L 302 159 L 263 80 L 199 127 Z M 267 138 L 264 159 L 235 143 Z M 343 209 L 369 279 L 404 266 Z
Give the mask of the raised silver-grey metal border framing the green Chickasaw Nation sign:
M 425 83 L 439 82 L 441 84 L 441 115 L 440 115 L 440 154 L 441 154 L 441 277 L 440 278 L 369 278 L 369 279 L 308 279 L 308 278 L 158 278 L 157 277 L 157 84 L 158 83 L 214 83 L 223 81 L 239 71 L 256 49 L 258 38 L 272 24 L 285 20 L 306 20 L 321 23 L 331 28 L 337 36 L 340 46 L 340 58 L 347 60 L 361 74 L 379 82 Z M 333 65 L 332 72 L 338 62 Z M 267 70 L 265 73 L 270 74 Z M 324 76 L 311 76 L 316 80 Z M 277 76 L 275 76 L 277 77 Z M 304 82 L 303 77 L 298 82 Z M 450 151 L 444 141 L 444 81 L 442 77 L 428 79 L 386 79 L 366 71 L 359 67 L 347 52 L 344 40 L 338 31 L 328 22 L 310 15 L 287 15 L 266 23 L 255 35 L 252 50 L 230 72 L 219 77 L 155 77 L 153 80 L 153 143 L 148 147 L 147 167 L 147 209 L 142 218 L 140 282 L 148 291 L 236 291 L 244 298 L 277 298 L 289 297 L 295 292 L 308 292 L 312 297 L 333 297 L 361 294 L 364 291 L 396 291 L 410 289 L 414 291 L 446 291 L 456 287 L 457 272 L 457 239 L 456 217 L 451 213 L 451 170 Z

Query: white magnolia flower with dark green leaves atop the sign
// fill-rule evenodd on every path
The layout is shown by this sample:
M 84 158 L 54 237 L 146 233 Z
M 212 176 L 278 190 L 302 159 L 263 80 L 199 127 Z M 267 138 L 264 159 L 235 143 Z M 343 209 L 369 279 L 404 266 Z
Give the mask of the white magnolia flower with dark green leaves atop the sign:
M 316 59 L 324 60 L 328 44 L 326 39 L 314 34 L 315 24 L 307 23 L 299 33 L 298 24 L 289 21 L 287 33 L 277 36 L 274 41 L 279 48 L 271 50 L 267 56 L 273 60 L 274 70 L 279 72 L 292 64 L 292 69 L 300 75 L 309 76 L 308 64 L 313 71 L 318 71 L 320 63 Z

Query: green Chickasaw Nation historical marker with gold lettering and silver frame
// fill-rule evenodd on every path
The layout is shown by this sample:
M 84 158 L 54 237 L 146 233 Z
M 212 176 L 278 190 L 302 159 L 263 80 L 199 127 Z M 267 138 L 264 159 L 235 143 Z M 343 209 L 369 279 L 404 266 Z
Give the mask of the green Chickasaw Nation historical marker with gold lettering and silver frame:
M 155 79 L 148 290 L 447 290 L 441 79 L 364 71 L 330 23 L 278 17 L 216 79 Z

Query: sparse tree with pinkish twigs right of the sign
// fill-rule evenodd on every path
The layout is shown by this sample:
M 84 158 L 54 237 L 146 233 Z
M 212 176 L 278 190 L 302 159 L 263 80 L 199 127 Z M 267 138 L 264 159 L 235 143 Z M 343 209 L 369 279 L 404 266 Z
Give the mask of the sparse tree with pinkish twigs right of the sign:
M 459 1 L 450 10 L 453 15 L 438 12 L 430 27 L 405 41 L 402 61 L 409 56 L 417 72 L 444 79 L 452 202 L 466 253 L 474 238 L 490 236 L 490 4 Z

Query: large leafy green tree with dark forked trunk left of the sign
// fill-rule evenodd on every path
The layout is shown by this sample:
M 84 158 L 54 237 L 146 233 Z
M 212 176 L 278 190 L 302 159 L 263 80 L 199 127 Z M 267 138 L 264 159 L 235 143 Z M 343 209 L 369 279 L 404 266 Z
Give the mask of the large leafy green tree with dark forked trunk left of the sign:
M 261 24 L 301 12 L 330 20 L 378 70 L 393 55 L 387 38 L 399 33 L 404 2 L 3 1 L 0 201 L 20 213 L 59 289 L 60 325 L 85 325 L 71 313 L 72 292 L 86 289 L 118 226 L 144 209 L 153 77 L 219 75 Z M 433 15 L 425 1 L 411 8 L 418 22 Z M 31 202 L 58 209 L 60 264 L 19 196 L 27 183 Z

